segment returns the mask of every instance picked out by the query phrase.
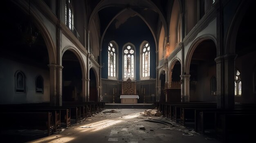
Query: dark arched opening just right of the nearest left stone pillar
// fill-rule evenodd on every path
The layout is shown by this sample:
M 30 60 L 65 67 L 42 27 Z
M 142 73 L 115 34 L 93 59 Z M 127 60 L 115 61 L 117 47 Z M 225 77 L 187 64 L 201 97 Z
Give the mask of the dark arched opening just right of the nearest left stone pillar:
M 82 101 L 82 70 L 73 51 L 65 51 L 62 66 L 62 101 Z

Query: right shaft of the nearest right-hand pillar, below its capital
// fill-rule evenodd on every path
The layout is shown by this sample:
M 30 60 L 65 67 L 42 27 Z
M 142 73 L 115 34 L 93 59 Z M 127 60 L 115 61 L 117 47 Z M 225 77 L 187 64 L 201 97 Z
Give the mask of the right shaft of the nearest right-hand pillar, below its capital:
M 235 59 L 236 54 L 224 55 L 224 108 L 235 105 Z

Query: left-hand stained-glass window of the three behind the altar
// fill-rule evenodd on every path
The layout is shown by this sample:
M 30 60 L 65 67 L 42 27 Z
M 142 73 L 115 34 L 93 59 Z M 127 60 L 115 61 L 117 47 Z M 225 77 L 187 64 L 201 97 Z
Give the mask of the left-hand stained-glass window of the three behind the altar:
M 108 45 L 108 76 L 116 77 L 116 48 L 112 42 Z

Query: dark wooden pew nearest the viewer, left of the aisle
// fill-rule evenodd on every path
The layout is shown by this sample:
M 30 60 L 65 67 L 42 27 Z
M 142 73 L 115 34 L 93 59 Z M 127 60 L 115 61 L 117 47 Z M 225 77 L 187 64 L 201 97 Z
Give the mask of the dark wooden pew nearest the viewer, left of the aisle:
M 51 112 L 1 112 L 2 132 L 7 129 L 47 130 L 47 135 L 55 132 Z

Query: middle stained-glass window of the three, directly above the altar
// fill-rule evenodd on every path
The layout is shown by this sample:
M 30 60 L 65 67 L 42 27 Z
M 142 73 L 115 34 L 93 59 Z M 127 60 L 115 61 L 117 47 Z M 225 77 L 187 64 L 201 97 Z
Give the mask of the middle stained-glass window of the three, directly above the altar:
M 125 46 L 124 51 L 124 78 L 134 78 L 135 50 L 131 45 Z

